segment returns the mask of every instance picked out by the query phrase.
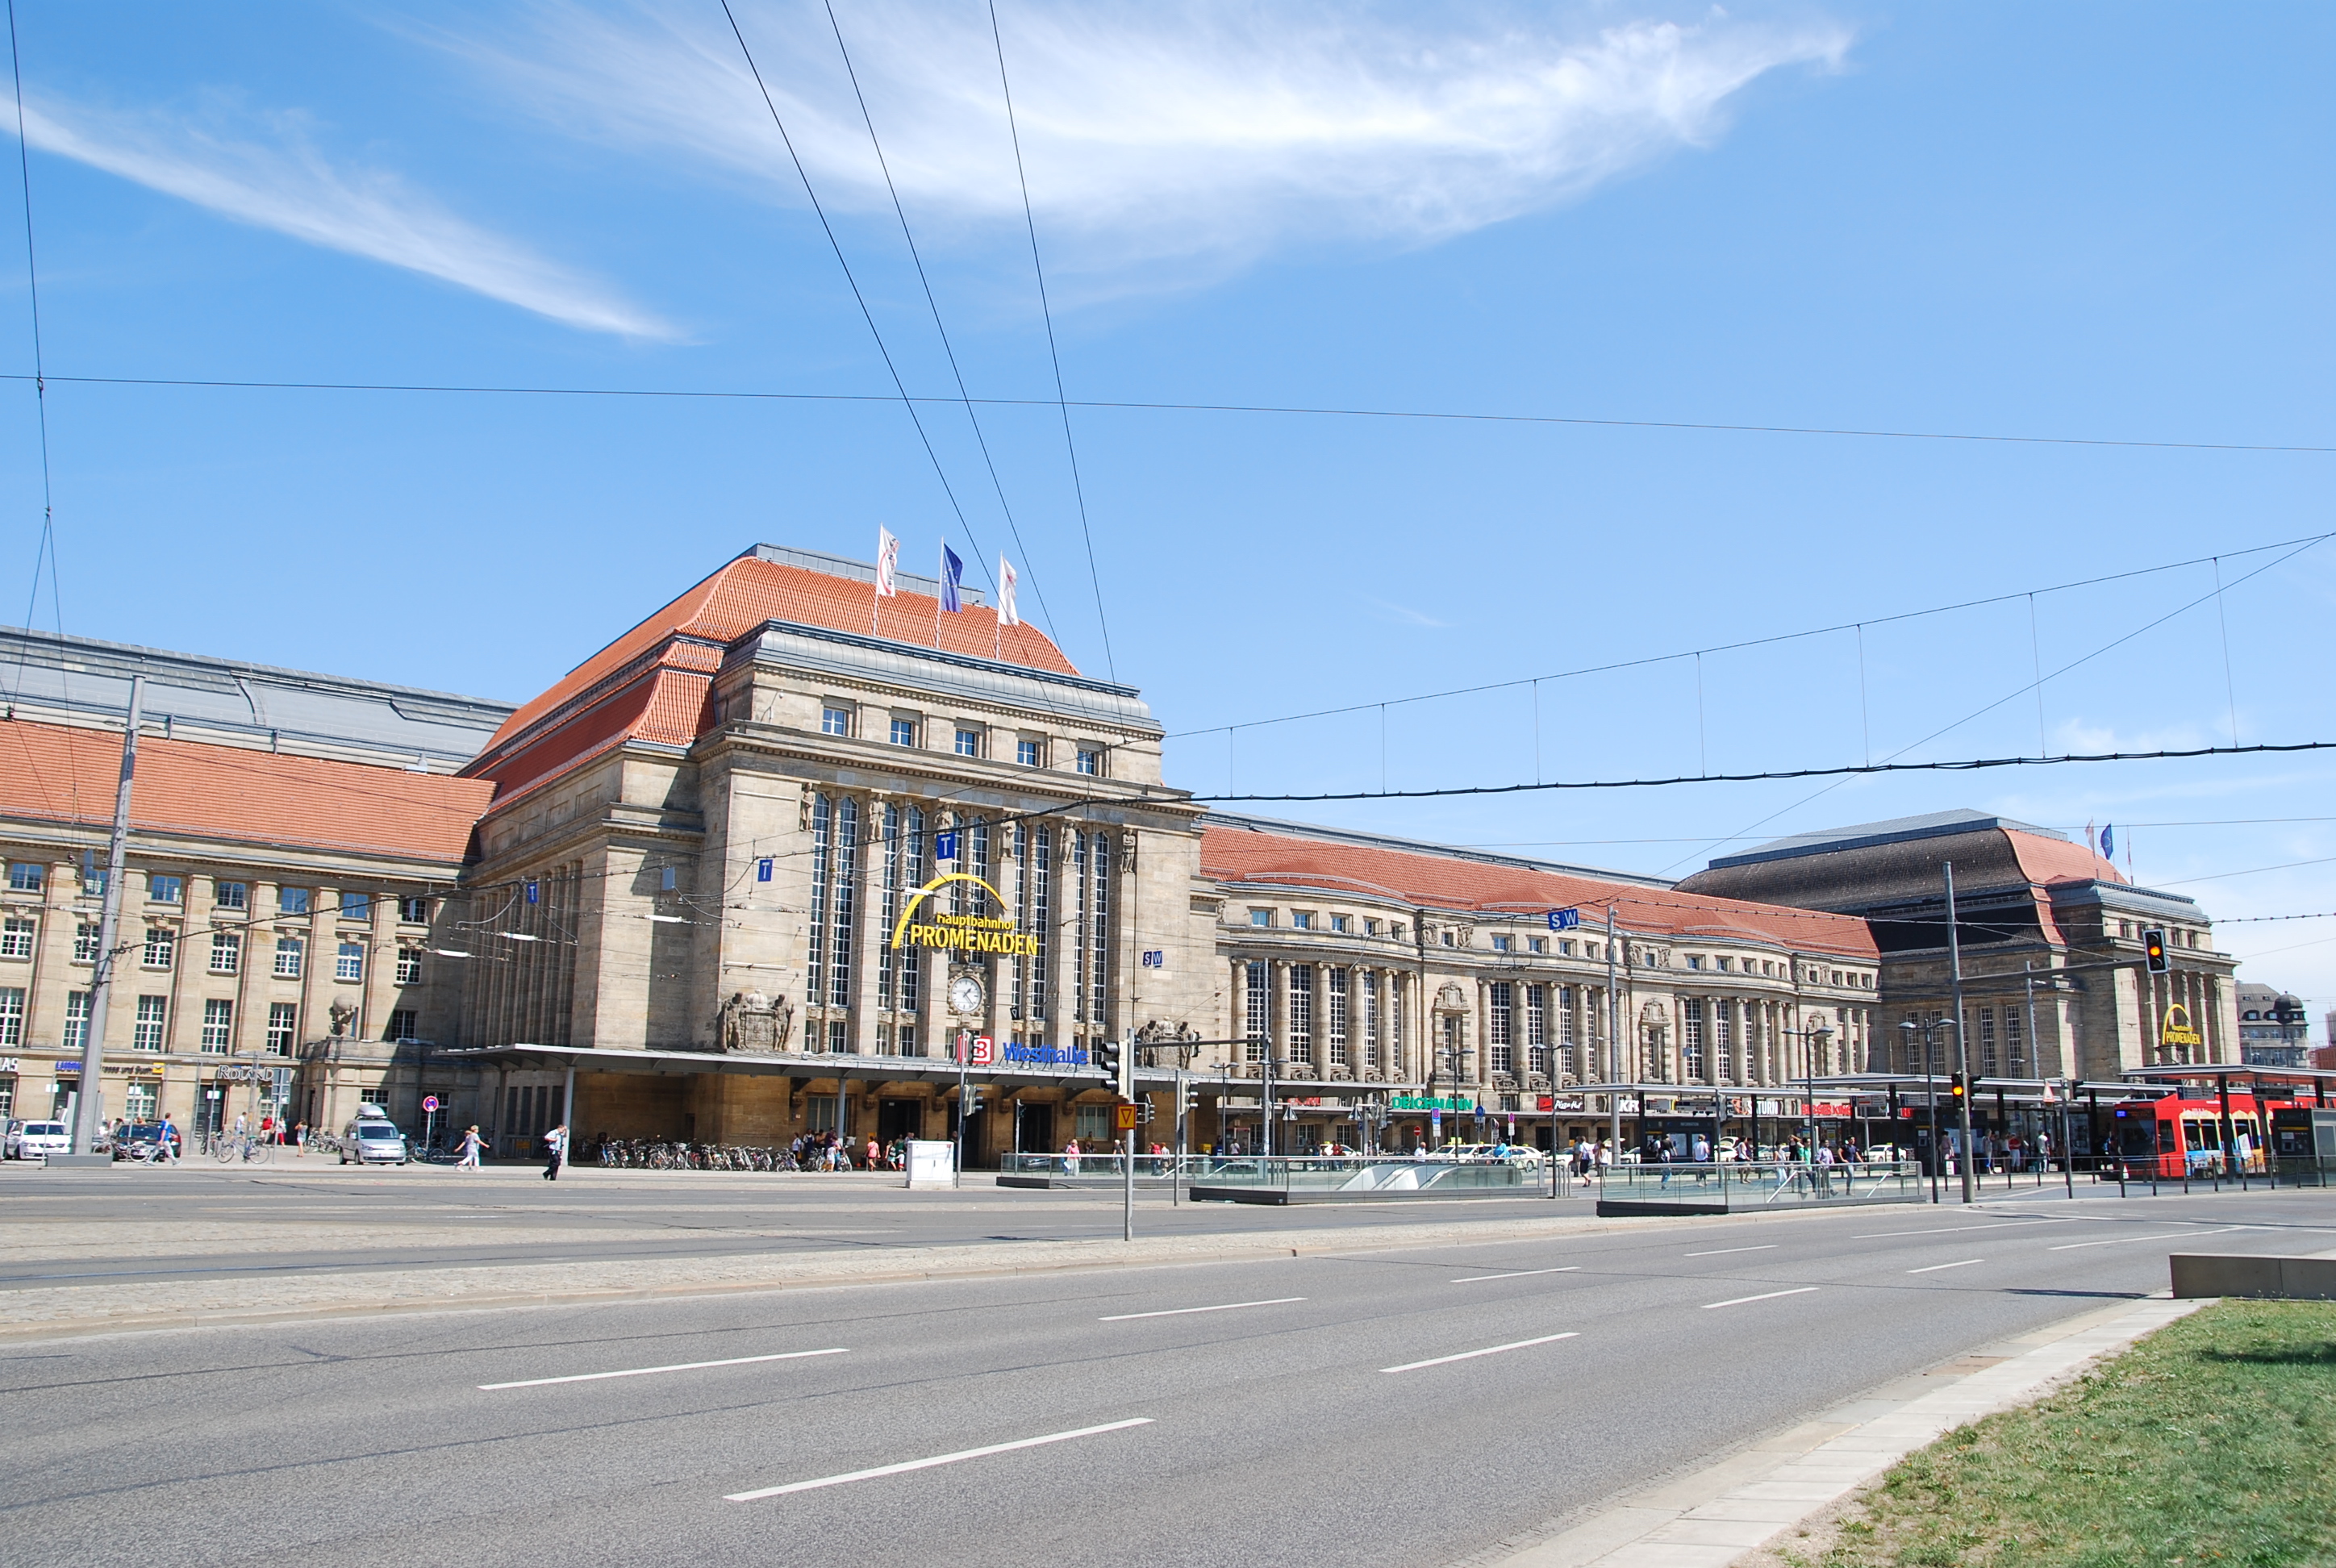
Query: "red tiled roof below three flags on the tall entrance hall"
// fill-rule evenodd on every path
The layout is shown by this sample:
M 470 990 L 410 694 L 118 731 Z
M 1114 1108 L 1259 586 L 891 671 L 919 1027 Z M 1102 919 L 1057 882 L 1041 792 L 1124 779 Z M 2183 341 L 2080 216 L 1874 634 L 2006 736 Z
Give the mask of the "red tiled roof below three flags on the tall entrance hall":
M 472 769 L 505 788 L 519 788 L 612 738 L 689 745 L 705 727 L 705 687 L 719 664 L 708 643 L 729 643 L 764 622 L 797 622 L 932 647 L 937 619 L 941 652 L 1056 675 L 1079 673 L 1047 633 L 1028 624 L 1000 626 L 995 610 L 948 615 L 930 594 L 902 589 L 895 598 L 876 598 L 876 589 L 867 582 L 738 556 L 568 671 L 549 692 L 523 703 L 502 722 Z M 635 692 L 638 682 L 652 682 L 654 692 Z M 530 734 L 537 729 L 542 734 Z M 526 736 L 523 748 L 502 750 L 521 736 Z

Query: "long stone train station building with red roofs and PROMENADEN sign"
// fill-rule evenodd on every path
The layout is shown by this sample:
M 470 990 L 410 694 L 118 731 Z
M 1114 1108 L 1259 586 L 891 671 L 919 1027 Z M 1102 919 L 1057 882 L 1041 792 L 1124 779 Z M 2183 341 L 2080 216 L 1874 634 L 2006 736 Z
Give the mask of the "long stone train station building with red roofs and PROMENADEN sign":
M 1939 1007 L 1918 862 L 1946 853 L 1990 1070 L 2161 1061 L 2161 1000 L 2236 1059 L 2203 914 L 2046 830 L 1951 813 L 1666 883 L 1208 811 L 1135 687 L 974 591 L 897 589 L 762 544 L 516 708 L 7 633 L 54 678 L 0 720 L 0 1094 L 77 1094 L 131 673 L 107 1115 L 369 1101 L 420 1131 L 437 1098 L 526 1152 L 561 1119 L 769 1147 L 967 1108 L 990 1164 L 1110 1138 L 1093 1049 L 1135 1040 L 1147 1143 L 1177 1073 L 1191 1143 L 1292 1152 L 1567 1140 L 1600 1084 L 1792 1117 Z M 2163 995 L 2126 974 L 2137 921 L 2182 930 Z M 2011 984 L 2051 1021 L 2004 1033 Z

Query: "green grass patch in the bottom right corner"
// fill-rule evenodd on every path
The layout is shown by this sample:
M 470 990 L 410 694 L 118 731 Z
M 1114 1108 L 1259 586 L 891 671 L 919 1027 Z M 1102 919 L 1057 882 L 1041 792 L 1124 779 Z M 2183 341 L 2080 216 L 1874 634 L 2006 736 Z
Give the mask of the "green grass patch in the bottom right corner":
M 1815 1563 L 2336 1563 L 2336 1304 L 2222 1302 L 1948 1432 L 1892 1468 Z

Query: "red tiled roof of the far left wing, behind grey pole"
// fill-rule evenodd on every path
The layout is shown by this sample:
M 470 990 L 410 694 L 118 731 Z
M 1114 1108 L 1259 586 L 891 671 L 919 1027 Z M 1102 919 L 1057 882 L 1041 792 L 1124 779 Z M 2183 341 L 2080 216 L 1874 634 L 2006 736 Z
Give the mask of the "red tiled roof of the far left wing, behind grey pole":
M 119 734 L 0 722 L 0 816 L 107 825 L 119 778 Z M 493 795 L 484 778 L 140 736 L 131 827 L 460 865 Z

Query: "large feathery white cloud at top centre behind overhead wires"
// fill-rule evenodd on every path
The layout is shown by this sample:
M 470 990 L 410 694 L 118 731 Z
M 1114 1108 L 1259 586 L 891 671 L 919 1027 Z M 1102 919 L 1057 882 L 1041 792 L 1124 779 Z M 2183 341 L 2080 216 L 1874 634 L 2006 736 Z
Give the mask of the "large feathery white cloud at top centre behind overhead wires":
M 818 0 L 734 0 L 820 199 L 885 192 Z M 920 224 L 1018 227 L 1021 189 L 979 2 L 839 12 L 892 178 Z M 1612 7 L 1598 7 L 1612 16 Z M 1733 93 L 1836 65 L 1829 23 L 1610 21 L 1481 9 L 1000 7 L 1030 196 L 1089 271 L 1222 269 L 1282 243 L 1427 243 L 1710 145 Z M 799 199 L 787 150 L 719 9 L 540 0 L 521 33 L 439 37 L 572 133 L 689 157 Z

